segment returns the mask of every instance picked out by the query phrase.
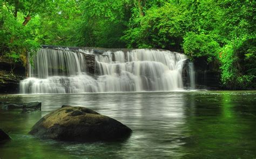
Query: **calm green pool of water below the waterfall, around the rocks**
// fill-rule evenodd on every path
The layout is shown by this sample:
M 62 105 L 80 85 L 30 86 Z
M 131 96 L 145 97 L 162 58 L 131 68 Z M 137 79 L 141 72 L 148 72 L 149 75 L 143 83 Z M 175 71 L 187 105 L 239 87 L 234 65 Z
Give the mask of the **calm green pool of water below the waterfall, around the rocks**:
M 93 93 L 0 96 L 0 101 L 42 102 L 42 112 L 0 110 L 12 140 L 1 158 L 253 158 L 256 91 Z M 62 105 L 86 106 L 129 126 L 126 141 L 60 142 L 28 135 Z

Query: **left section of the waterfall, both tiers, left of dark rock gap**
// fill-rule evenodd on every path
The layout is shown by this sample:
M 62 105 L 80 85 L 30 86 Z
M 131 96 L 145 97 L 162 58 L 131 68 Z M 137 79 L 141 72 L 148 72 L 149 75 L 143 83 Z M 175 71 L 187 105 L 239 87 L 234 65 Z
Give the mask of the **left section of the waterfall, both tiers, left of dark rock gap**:
M 97 82 L 85 73 L 84 55 L 65 49 L 41 49 L 30 66 L 21 93 L 98 92 Z

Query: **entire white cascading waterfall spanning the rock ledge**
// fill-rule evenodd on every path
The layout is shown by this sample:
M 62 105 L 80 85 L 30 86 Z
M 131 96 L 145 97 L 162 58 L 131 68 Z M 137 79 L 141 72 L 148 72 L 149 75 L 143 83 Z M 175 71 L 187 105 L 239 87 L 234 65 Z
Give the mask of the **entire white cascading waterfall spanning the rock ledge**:
M 35 56 L 30 78 L 21 81 L 21 93 L 82 93 L 125 91 L 177 91 L 183 88 L 183 65 L 187 57 L 167 50 L 134 49 L 95 55 L 98 76 L 85 73 L 79 49 L 41 49 Z M 193 65 L 189 66 L 193 72 Z M 190 73 L 191 88 L 194 77 Z

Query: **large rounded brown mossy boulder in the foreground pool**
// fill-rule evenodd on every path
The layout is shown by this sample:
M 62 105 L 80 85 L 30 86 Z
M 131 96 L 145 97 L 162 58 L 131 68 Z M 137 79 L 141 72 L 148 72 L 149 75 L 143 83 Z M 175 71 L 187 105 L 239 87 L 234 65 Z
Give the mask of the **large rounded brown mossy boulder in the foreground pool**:
M 111 141 L 125 139 L 131 132 L 121 122 L 85 107 L 63 106 L 45 115 L 29 133 L 63 141 Z

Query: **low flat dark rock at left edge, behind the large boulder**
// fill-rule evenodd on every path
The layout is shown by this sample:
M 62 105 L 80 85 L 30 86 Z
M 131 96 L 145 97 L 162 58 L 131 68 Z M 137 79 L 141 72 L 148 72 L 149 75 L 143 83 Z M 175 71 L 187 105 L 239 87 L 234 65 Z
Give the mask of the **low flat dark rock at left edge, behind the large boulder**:
M 31 103 L 0 102 L 0 109 L 3 109 L 3 110 L 22 109 L 22 113 L 41 111 L 41 106 L 42 106 L 41 102 L 31 102 Z

